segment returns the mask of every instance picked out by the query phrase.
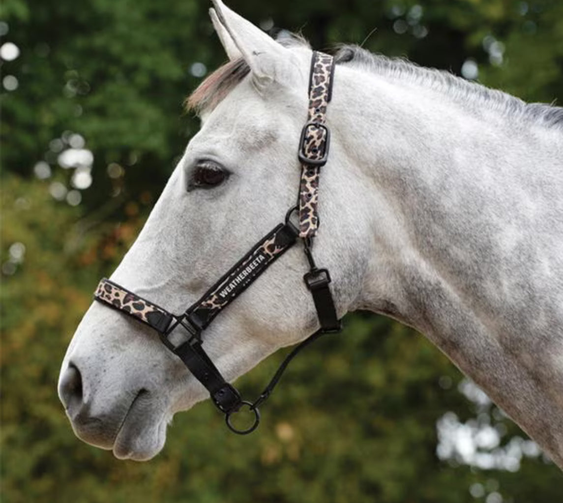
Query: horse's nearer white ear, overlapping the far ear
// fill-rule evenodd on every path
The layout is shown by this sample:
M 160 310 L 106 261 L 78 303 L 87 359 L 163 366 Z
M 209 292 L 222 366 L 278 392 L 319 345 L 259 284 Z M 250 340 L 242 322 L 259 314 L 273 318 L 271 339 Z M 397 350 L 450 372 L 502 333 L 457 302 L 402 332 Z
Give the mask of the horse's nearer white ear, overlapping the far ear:
M 242 56 L 251 68 L 257 84 L 278 80 L 291 51 L 280 45 L 260 28 L 225 6 L 212 0 L 211 20 L 230 59 Z M 217 25 L 219 28 L 217 28 Z

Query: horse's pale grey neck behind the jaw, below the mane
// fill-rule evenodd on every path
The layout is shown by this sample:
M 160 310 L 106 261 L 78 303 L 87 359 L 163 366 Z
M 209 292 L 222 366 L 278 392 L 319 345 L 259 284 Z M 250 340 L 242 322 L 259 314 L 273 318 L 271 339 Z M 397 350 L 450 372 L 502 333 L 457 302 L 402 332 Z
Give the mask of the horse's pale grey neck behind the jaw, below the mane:
M 563 135 L 359 77 L 339 69 L 330 109 L 373 186 L 356 308 L 424 333 L 563 465 Z

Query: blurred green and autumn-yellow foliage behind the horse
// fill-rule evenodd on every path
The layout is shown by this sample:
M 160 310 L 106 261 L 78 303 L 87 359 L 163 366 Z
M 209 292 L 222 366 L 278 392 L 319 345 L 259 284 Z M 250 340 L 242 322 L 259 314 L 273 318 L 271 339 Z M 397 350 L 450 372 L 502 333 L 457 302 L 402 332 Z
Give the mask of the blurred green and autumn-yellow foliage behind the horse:
M 563 94 L 558 0 L 230 6 L 254 23 L 301 30 L 316 48 L 363 42 L 454 73 L 472 59 L 491 87 L 531 101 Z M 461 374 L 422 336 L 361 313 L 298 359 L 251 437 L 228 433 L 209 403 L 177 415 L 167 446 L 146 464 L 114 460 L 74 437 L 56 397 L 60 362 L 97 280 L 132 243 L 198 127 L 181 105 L 200 81 L 190 69 L 225 59 L 208 7 L 204 0 L 1 5 L 3 42 L 21 50 L 2 61 L 2 75 L 19 82 L 1 95 L 2 501 L 560 501 L 561 472 L 541 456 L 525 457 L 517 473 L 440 460 L 435 423 L 446 411 L 503 425 L 503 444 L 523 434 L 495 407 L 484 412 L 460 394 Z M 53 181 L 71 186 L 72 170 L 57 166 L 70 132 L 86 139 L 95 159 L 78 206 L 50 194 Z M 39 161 L 51 167 L 46 180 L 33 174 Z M 110 165 L 119 176 L 108 175 Z M 25 245 L 23 257 L 10 253 L 14 243 Z M 243 390 L 256 393 L 280 357 L 243 377 Z

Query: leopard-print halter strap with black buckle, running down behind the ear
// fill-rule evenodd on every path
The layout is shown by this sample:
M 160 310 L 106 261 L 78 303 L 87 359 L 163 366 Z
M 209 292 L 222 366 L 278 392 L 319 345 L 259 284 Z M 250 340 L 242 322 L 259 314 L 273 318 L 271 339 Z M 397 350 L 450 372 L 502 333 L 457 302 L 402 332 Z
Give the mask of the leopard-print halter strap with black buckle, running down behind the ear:
M 314 237 L 319 227 L 319 175 L 328 155 L 330 135 L 325 122 L 333 72 L 333 57 L 315 51 L 311 63 L 307 124 L 301 135 L 299 155 L 302 164 L 298 199 L 300 238 Z

